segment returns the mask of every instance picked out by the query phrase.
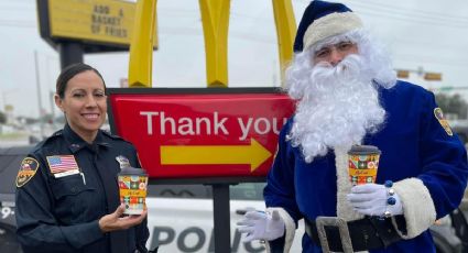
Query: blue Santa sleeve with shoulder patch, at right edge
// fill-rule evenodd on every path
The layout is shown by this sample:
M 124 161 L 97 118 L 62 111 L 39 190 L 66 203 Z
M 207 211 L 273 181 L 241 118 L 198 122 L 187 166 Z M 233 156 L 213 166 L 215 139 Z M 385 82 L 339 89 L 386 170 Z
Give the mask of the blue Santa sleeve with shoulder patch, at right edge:
M 444 119 L 437 119 L 440 118 L 437 108 L 434 95 L 427 92 L 420 139 L 423 173 L 418 178 L 428 188 L 439 219 L 460 204 L 467 186 L 468 166 L 464 144 L 448 124 L 444 128 Z

